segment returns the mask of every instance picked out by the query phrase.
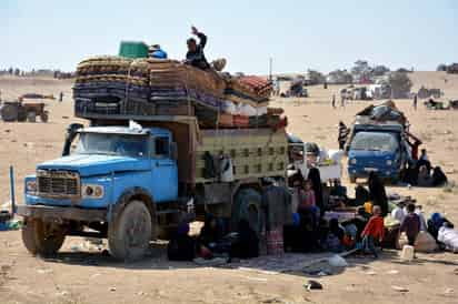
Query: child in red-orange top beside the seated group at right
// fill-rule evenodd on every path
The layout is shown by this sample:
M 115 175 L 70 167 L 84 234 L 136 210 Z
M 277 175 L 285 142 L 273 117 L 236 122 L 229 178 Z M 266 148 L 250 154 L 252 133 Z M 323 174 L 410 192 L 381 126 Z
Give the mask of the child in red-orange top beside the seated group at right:
M 375 241 L 381 242 L 385 236 L 385 224 L 384 217 L 381 216 L 381 209 L 379 205 L 372 207 L 372 217 L 366 224 L 365 230 L 361 233 L 362 237 L 362 250 L 366 253 L 370 251 L 374 254 L 374 257 L 378 257 Z

